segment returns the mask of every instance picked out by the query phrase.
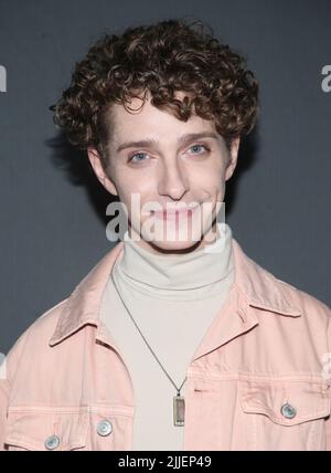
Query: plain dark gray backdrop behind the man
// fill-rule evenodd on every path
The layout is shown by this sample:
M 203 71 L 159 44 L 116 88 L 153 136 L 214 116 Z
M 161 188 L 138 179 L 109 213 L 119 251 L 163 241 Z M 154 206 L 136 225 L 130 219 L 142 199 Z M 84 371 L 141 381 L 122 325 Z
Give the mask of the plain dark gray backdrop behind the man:
M 8 73 L 0 94 L 0 351 L 113 245 L 109 198 L 47 107 L 102 32 L 182 15 L 206 21 L 245 53 L 260 82 L 258 127 L 226 195 L 234 238 L 277 277 L 330 305 L 331 93 L 321 88 L 331 63 L 329 0 L 0 0 Z

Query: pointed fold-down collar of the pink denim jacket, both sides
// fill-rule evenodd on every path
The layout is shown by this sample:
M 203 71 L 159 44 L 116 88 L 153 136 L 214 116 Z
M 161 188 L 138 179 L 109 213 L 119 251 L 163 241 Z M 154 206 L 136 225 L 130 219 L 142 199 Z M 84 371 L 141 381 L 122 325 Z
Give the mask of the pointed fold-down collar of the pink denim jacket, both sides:
M 124 244 L 120 241 L 113 248 L 65 299 L 50 346 L 57 345 L 87 324 L 103 330 L 98 316 L 103 293 L 115 262 L 122 256 Z M 234 290 L 244 303 L 278 315 L 300 316 L 299 308 L 288 299 L 284 283 L 248 257 L 234 238 L 232 245 Z M 233 293 L 232 291 L 232 295 Z

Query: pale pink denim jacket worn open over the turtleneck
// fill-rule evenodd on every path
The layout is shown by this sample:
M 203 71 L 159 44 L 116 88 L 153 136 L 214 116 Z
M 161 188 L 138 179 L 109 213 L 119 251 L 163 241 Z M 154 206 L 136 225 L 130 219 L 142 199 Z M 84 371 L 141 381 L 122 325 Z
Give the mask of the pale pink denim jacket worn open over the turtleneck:
M 122 245 L 8 354 L 0 450 L 132 450 L 130 374 L 98 319 Z M 186 371 L 183 450 L 331 450 L 331 311 L 233 250 L 235 282 Z

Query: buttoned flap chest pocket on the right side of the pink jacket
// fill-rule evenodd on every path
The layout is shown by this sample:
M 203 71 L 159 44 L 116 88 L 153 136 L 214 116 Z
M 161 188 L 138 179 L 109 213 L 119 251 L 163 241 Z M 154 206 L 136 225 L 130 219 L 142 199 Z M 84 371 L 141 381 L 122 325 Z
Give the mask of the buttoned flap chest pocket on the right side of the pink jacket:
M 249 450 L 325 450 L 330 395 L 321 381 L 238 381 Z

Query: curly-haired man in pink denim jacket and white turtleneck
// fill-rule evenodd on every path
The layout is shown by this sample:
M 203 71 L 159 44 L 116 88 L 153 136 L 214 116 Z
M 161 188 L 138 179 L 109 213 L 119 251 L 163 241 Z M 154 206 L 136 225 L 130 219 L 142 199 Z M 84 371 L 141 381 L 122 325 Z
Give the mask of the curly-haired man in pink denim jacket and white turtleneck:
M 218 222 L 257 88 L 181 20 L 76 64 L 55 123 L 128 230 L 8 355 L 3 450 L 331 450 L 330 309 Z

